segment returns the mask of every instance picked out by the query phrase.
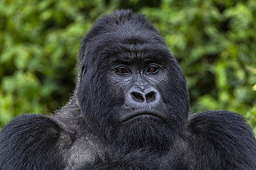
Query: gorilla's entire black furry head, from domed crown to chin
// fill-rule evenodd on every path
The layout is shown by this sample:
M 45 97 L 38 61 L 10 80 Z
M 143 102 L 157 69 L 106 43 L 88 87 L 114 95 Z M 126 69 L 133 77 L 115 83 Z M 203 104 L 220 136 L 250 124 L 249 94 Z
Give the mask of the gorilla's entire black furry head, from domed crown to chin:
M 181 68 L 141 14 L 100 18 L 78 56 L 76 98 L 94 135 L 123 151 L 168 151 L 189 112 Z

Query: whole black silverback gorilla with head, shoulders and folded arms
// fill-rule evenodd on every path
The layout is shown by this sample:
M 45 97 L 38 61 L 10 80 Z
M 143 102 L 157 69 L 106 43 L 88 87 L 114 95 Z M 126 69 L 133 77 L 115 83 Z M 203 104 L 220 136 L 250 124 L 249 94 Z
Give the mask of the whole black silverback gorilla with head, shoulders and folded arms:
M 142 14 L 98 19 L 77 62 L 66 106 L 3 127 L 1 170 L 256 169 L 255 137 L 242 116 L 189 114 L 183 72 Z

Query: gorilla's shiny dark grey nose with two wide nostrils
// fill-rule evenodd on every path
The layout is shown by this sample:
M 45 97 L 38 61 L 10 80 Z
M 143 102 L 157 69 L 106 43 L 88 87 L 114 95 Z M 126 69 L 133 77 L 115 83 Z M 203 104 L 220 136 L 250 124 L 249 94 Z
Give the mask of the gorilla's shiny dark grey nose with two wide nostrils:
M 125 104 L 130 106 L 142 104 L 156 105 L 160 100 L 160 93 L 151 85 L 145 86 L 143 89 L 140 87 L 131 87 L 125 95 Z

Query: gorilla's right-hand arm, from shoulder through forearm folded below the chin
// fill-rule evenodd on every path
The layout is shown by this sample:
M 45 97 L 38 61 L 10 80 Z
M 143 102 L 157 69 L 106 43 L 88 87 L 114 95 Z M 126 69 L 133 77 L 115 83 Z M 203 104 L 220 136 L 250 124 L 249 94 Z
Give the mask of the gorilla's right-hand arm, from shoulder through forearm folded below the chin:
M 254 170 L 255 137 L 244 117 L 230 111 L 205 111 L 190 116 L 165 156 L 134 151 L 126 156 L 95 159 L 83 169 Z

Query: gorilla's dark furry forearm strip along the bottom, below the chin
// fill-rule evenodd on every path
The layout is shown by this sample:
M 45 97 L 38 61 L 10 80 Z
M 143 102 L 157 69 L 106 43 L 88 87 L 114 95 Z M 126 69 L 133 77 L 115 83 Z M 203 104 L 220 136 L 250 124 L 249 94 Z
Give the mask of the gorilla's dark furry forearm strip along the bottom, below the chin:
M 179 148 L 181 149 L 181 148 Z M 177 149 L 177 150 L 179 150 Z M 181 151 L 182 150 L 182 151 Z M 170 152 L 164 156 L 157 156 L 147 151 L 133 151 L 123 156 L 109 156 L 104 159 L 96 158 L 93 162 L 86 162 L 79 170 L 134 170 L 134 169 L 175 169 L 194 170 L 188 158 L 188 150 L 182 148 L 180 152 Z M 78 170 L 78 169 L 77 169 Z

